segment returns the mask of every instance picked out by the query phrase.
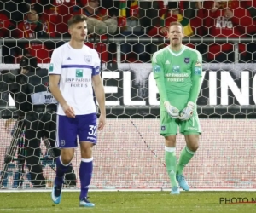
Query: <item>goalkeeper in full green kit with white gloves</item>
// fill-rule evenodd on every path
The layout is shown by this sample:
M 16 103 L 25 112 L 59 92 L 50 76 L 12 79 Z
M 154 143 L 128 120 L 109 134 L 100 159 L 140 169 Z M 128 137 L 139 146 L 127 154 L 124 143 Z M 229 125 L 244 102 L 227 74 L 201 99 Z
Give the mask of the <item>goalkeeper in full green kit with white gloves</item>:
M 170 45 L 153 55 L 154 79 L 160 93 L 160 135 L 166 140 L 166 170 L 171 181 L 171 194 L 179 187 L 189 191 L 183 176 L 199 146 L 201 126 L 196 112 L 196 100 L 201 88 L 201 54 L 182 44 L 183 26 L 172 22 L 169 27 Z M 176 159 L 177 127 L 184 135 L 186 147 Z

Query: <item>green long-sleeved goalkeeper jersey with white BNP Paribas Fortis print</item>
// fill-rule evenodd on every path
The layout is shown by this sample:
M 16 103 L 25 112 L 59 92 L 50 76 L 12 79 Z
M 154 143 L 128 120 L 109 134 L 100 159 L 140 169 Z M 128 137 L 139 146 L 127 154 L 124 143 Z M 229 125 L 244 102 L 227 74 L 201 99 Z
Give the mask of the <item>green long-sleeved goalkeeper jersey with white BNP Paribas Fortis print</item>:
M 155 52 L 152 59 L 154 79 L 160 93 L 160 107 L 163 102 L 192 101 L 196 103 L 201 88 L 201 54 L 182 45 L 178 52 L 170 46 Z M 177 106 L 175 106 L 177 107 Z

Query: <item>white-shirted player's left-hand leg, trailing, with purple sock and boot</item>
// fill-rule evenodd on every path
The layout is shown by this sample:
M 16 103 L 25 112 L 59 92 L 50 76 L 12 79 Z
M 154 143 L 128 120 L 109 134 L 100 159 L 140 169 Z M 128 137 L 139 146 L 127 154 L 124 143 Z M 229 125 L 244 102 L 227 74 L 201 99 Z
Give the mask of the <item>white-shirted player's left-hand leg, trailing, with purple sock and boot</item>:
M 51 199 L 55 204 L 61 203 L 61 189 L 64 181 L 64 175 L 69 169 L 73 155 L 74 148 L 62 148 L 61 156 L 56 159 L 56 177 L 51 192 Z

